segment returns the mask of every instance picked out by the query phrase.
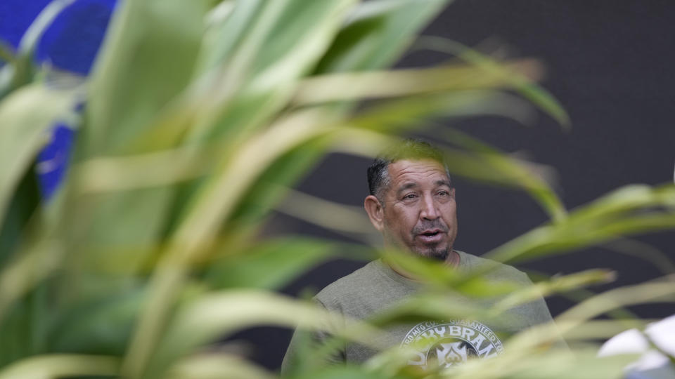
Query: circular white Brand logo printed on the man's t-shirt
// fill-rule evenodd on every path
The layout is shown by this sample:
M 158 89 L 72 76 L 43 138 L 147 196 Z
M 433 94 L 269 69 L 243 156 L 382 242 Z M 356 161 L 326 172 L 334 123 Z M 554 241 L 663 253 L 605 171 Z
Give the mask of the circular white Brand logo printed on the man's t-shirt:
M 408 364 L 423 368 L 451 367 L 470 358 L 491 358 L 503 350 L 490 328 L 468 320 L 417 324 L 406 334 L 401 347 L 412 347 L 416 355 Z

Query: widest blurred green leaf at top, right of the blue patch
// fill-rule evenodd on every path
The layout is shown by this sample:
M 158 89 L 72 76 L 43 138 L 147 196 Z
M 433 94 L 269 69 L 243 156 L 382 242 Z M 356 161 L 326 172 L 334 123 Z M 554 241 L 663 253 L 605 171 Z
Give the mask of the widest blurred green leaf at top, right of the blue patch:
M 120 4 L 92 69 L 82 153 L 127 150 L 186 88 L 206 13 L 206 0 Z

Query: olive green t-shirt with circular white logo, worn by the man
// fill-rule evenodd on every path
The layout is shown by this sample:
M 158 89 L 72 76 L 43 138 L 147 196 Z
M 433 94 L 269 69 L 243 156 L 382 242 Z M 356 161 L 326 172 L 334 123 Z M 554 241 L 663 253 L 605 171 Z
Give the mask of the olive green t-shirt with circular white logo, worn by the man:
M 527 274 L 514 267 L 458 251 L 460 261 L 456 270 L 471 272 L 488 267 L 483 277 L 488 281 L 531 286 Z M 352 274 L 342 277 L 323 288 L 314 300 L 326 309 L 353 319 L 369 319 L 420 291 L 422 285 L 394 272 L 382 260 L 369 262 Z M 502 297 L 477 300 L 459 293 L 449 294 L 449 301 L 458 307 L 479 305 L 486 309 Z M 551 313 L 543 298 L 511 308 L 492 319 L 446 319 L 423 321 L 418 324 L 402 324 L 387 328 L 387 333 L 376 341 L 381 346 L 406 346 L 415 344 L 417 357 L 408 364 L 428 367 L 431 364 L 452 364 L 469 357 L 479 359 L 493 357 L 503 350 L 504 337 L 522 331 L 529 326 L 551 321 Z M 297 334 L 297 333 L 296 333 Z M 297 349 L 294 335 L 283 360 L 282 372 L 288 369 L 290 357 Z M 325 338 L 323 333 L 316 336 Z M 420 340 L 430 341 L 420 345 Z M 377 351 L 356 343 L 347 343 L 335 361 L 361 363 Z M 432 363 L 434 362 L 434 363 Z

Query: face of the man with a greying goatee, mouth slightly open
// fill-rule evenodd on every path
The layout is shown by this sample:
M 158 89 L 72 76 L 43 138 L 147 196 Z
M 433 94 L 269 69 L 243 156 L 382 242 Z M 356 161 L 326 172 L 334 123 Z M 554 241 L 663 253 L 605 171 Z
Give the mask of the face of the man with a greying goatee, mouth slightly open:
M 432 160 L 389 165 L 382 232 L 385 243 L 424 257 L 446 260 L 457 235 L 455 190 Z

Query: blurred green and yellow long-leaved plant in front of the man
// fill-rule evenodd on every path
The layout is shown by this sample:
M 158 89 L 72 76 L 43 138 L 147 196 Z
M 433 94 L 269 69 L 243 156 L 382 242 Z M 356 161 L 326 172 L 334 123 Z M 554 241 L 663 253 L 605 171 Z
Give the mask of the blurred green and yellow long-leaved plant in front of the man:
M 48 16 L 71 2 L 54 1 L 32 30 L 44 29 Z M 448 2 L 126 0 L 82 84 L 54 81 L 62 76 L 46 69 L 25 76 L 28 55 L 3 50 L 3 69 L 15 79 L 1 84 L 0 102 L 0 378 L 274 376 L 204 347 L 247 326 L 317 329 L 333 317 L 274 289 L 345 248 L 302 237 L 256 238 L 275 207 L 303 216 L 282 200 L 303 196 L 289 188 L 323 154 L 371 155 L 430 116 L 519 119 L 522 102 L 503 90 L 566 122 L 528 79 L 536 77 L 532 62 L 499 65 L 433 39 L 427 47 L 450 48 L 468 63 L 382 71 Z M 373 91 L 373 84 L 387 86 Z M 379 100 L 356 112 L 366 98 Z M 83 101 L 78 120 L 74 109 Z M 77 130 L 77 144 L 68 178 L 45 204 L 31 166 L 56 121 Z M 546 181 L 518 161 L 457 132 L 453 141 L 461 147 L 447 151 L 456 173 L 525 189 L 551 214 L 551 225 L 498 248 L 496 258 L 675 225 L 672 185 L 617 190 L 568 214 Z M 319 213 L 324 206 L 336 205 L 316 201 Z M 344 222 L 313 221 L 354 225 L 354 213 L 338 208 Z M 372 253 L 365 250 L 356 247 L 354 255 Z M 436 288 L 495 291 L 480 277 L 412 264 Z M 605 272 L 581 273 L 539 288 L 554 293 L 607 279 Z M 645 293 L 671 301 L 674 286 L 665 280 L 581 302 L 561 316 L 560 327 L 572 340 L 581 329 L 596 331 L 595 338 L 615 333 L 624 324 L 587 320 L 608 310 L 608 297 L 617 307 L 645 300 Z M 434 295 L 416 312 L 439 317 Z M 378 327 L 354 321 L 333 333 L 368 343 Z M 616 361 L 593 359 L 592 349 L 578 350 L 576 358 L 543 350 L 548 336 L 524 333 L 513 340 L 519 347 L 513 354 L 457 371 L 411 373 L 396 359 L 401 352 L 387 351 L 364 366 L 307 367 L 295 375 L 490 378 L 546 368 L 563 378 L 570 362 L 579 373 L 617 372 Z

